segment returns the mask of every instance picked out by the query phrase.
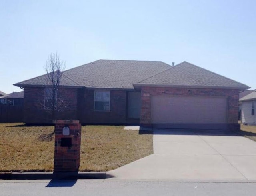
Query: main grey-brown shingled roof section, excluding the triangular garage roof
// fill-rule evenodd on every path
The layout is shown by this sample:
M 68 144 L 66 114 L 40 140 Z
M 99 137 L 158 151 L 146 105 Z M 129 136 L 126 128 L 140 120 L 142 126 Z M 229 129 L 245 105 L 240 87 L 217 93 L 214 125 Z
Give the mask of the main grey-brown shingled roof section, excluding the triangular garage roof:
M 170 65 L 160 61 L 97 60 L 64 71 L 60 85 L 133 89 L 133 83 L 140 82 L 168 68 Z M 47 85 L 47 75 L 14 85 L 20 87 L 44 86 Z

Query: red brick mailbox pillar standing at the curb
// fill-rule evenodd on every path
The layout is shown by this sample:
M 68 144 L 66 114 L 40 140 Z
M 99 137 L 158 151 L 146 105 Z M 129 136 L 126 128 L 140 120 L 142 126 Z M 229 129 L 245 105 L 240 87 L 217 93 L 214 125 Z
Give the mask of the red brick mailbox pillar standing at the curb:
M 78 172 L 81 146 L 79 120 L 53 120 L 53 123 L 55 123 L 54 172 Z

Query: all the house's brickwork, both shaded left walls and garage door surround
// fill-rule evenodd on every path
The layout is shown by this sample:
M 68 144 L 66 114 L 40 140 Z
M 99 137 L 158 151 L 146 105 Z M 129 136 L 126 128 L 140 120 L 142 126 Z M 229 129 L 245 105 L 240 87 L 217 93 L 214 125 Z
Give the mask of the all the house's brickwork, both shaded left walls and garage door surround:
M 142 87 L 141 124 L 151 122 L 151 96 L 223 96 L 228 99 L 228 120 L 230 127 L 238 127 L 239 90 L 210 88 L 168 88 Z M 124 124 L 127 119 L 128 92 L 122 90 L 110 91 L 110 111 L 94 111 L 94 90 L 84 88 L 62 88 L 58 96 L 62 96 L 67 108 L 60 112 L 56 119 L 80 120 L 85 124 Z M 24 90 L 24 122 L 50 123 L 49 114 L 42 109 L 44 103 L 44 88 L 26 87 Z

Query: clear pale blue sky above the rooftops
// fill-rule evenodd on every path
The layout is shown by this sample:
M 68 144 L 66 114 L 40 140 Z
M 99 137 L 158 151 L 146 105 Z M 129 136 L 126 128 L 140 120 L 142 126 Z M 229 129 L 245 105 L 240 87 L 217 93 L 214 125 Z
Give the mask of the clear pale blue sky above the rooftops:
M 98 59 L 184 60 L 256 88 L 255 0 L 0 0 L 0 90 Z

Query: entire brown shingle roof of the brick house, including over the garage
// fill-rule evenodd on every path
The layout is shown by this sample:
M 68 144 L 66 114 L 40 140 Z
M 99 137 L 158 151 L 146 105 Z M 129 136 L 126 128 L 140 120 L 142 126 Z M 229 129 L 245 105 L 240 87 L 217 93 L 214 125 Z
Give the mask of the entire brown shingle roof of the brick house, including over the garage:
M 15 86 L 45 86 L 47 75 Z M 170 66 L 160 61 L 97 60 L 63 72 L 61 86 L 133 89 L 134 86 L 173 86 L 197 88 L 249 87 L 188 62 Z

